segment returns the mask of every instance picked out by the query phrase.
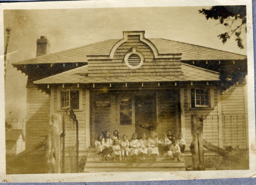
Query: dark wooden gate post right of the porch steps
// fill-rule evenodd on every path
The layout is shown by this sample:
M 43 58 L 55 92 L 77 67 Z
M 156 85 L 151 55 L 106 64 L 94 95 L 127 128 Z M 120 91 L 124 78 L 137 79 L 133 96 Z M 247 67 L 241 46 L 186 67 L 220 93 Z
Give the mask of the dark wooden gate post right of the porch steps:
M 204 170 L 203 117 L 191 115 L 192 143 L 190 146 L 193 170 Z

